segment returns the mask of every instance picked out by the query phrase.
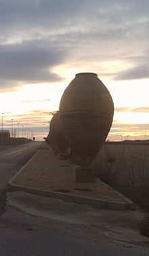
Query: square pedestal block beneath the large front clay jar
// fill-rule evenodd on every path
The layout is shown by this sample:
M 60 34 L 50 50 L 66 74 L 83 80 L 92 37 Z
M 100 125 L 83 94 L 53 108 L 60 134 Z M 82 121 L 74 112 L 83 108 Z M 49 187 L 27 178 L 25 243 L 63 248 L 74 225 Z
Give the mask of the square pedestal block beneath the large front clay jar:
M 77 183 L 95 183 L 96 171 L 91 168 L 77 168 L 76 182 Z

